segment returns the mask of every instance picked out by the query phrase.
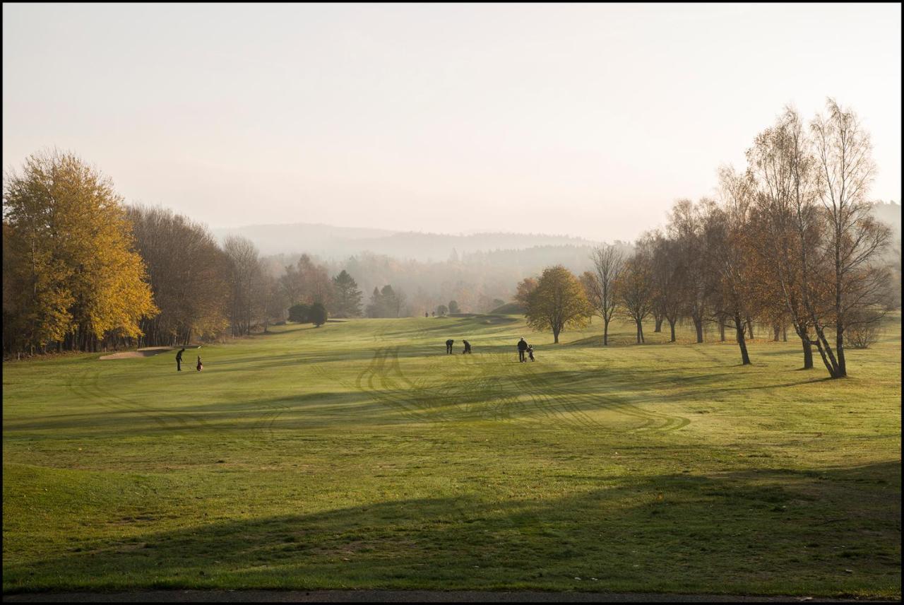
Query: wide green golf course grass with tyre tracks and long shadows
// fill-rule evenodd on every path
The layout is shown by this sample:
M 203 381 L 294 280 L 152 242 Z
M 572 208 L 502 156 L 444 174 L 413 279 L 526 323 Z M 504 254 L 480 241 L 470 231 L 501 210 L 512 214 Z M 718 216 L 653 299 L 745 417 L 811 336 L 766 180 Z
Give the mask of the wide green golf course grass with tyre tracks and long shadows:
M 842 381 L 794 342 L 741 367 L 646 329 L 362 319 L 205 345 L 202 373 L 4 364 L 4 591 L 899 597 L 900 317 Z

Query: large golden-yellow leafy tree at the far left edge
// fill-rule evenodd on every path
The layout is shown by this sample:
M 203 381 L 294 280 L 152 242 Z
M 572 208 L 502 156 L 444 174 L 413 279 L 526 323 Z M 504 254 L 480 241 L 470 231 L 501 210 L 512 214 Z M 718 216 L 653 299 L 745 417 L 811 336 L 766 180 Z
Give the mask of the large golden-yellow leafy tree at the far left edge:
M 138 321 L 157 312 L 122 198 L 78 156 L 34 154 L 7 175 L 4 223 L 23 289 L 4 323 L 20 330 L 19 346 L 89 350 L 139 336 Z

